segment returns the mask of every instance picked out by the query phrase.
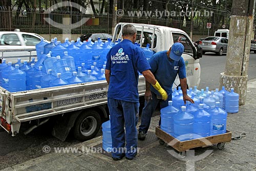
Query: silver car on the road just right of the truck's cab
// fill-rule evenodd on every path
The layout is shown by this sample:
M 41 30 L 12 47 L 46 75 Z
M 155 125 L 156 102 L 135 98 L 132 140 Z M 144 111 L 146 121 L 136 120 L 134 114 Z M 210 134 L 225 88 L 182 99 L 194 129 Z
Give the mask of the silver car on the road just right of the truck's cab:
M 227 53 L 228 39 L 225 37 L 210 36 L 199 41 L 198 46 L 203 49 L 203 54 L 206 52 L 215 52 L 218 55 Z

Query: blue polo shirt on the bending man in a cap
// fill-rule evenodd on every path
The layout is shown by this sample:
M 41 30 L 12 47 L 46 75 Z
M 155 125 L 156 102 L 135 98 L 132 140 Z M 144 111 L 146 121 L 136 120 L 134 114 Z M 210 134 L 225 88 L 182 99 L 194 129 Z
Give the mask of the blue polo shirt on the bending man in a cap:
M 151 72 L 155 75 L 161 87 L 166 91 L 168 96 L 172 95 L 172 87 L 177 74 L 179 78 L 186 78 L 186 68 L 184 59 L 181 57 L 179 61 L 170 59 L 167 51 L 155 53 L 149 61 Z M 151 86 L 151 91 L 160 95 L 156 89 Z

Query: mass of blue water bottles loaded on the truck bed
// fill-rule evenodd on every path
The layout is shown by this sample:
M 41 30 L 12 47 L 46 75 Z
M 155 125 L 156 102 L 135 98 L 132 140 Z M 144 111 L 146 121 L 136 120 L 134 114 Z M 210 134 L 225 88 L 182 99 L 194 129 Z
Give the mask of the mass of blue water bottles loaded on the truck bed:
M 48 42 L 41 39 L 36 45 L 37 61 L 18 58 L 16 63 L 3 59 L 0 64 L 0 86 L 10 92 L 41 89 L 68 84 L 105 80 L 106 55 L 120 42 L 113 43 L 110 38 L 103 42 L 100 38 L 93 42 L 75 42 L 68 38 L 61 44 L 57 38 Z M 153 51 L 150 44 L 143 48 L 149 60 Z

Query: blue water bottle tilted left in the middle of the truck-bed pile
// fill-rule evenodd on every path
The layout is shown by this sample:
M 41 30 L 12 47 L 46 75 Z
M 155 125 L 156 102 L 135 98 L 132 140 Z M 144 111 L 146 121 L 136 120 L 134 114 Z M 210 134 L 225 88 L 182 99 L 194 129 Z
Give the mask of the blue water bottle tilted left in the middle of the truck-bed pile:
M 60 56 L 56 56 L 56 61 L 53 63 L 55 73 L 61 73 L 62 79 L 68 79 L 72 77 L 70 67 L 66 59 L 61 59 Z

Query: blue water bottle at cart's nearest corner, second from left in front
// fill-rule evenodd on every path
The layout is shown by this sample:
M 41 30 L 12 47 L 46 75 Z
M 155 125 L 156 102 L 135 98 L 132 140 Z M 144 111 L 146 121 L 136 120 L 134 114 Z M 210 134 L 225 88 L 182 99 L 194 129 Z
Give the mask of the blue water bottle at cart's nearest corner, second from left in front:
M 174 136 L 180 141 L 193 139 L 194 116 L 186 112 L 186 106 L 174 115 Z

